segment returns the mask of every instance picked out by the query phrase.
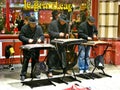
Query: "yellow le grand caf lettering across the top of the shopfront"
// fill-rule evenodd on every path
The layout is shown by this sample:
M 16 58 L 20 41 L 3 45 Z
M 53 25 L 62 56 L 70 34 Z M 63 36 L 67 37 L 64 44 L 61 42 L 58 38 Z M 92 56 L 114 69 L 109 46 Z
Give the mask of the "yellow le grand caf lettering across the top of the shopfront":
M 53 9 L 53 10 L 68 10 L 72 11 L 72 4 L 58 4 L 58 2 L 40 2 L 35 0 L 34 2 L 27 2 L 24 0 L 24 9 L 34 9 L 38 11 L 39 9 Z

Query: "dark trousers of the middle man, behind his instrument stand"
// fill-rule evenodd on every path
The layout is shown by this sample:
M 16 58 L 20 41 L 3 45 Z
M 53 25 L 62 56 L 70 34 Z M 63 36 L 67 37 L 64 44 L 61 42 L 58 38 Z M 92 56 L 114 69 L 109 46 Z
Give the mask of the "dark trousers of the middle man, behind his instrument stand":
M 50 50 L 47 60 L 48 71 L 58 68 L 66 68 L 66 50 L 63 46 L 58 46 L 58 50 Z

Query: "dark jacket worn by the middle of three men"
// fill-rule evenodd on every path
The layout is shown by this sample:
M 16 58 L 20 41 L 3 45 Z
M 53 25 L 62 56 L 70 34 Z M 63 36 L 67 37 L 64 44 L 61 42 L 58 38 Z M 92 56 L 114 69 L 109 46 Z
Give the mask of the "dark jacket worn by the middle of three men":
M 59 20 L 53 20 L 48 26 L 50 39 L 59 38 L 59 33 L 68 33 L 68 24 L 60 25 Z

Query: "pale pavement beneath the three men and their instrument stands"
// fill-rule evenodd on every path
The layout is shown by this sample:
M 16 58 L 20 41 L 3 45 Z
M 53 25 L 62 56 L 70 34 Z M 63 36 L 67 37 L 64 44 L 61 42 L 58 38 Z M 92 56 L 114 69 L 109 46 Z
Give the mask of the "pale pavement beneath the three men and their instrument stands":
M 95 77 L 94 79 L 85 75 L 78 74 L 77 66 L 74 67 L 76 81 L 72 79 L 65 79 L 67 83 L 61 82 L 60 79 L 63 74 L 56 74 L 53 78 L 47 78 L 45 73 L 41 74 L 40 79 L 27 78 L 25 82 L 20 81 L 20 71 L 21 65 L 14 65 L 15 70 L 10 71 L 10 69 L 1 69 L 0 70 L 0 90 L 64 90 L 65 88 L 72 87 L 73 85 L 77 85 L 78 87 L 87 87 L 90 90 L 120 90 L 120 66 L 114 65 L 105 65 L 104 71 L 111 75 L 112 77 L 98 75 L 101 70 L 96 69 L 95 75 L 101 77 Z M 93 66 L 90 67 L 90 71 L 93 70 Z M 30 72 L 30 67 L 28 69 L 28 73 Z M 57 71 L 61 72 L 61 71 Z M 29 76 L 29 75 L 28 75 Z M 73 76 L 73 75 L 72 75 Z M 66 78 L 71 76 L 66 75 Z

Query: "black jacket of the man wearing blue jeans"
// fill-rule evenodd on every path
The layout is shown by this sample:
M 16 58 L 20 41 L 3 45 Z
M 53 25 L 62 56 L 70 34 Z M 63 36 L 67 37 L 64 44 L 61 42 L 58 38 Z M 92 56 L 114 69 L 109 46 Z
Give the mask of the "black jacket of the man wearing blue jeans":
M 78 38 L 87 40 L 88 37 L 93 38 L 93 34 L 98 34 L 98 30 L 95 25 L 90 26 L 87 21 L 80 24 L 78 29 Z

